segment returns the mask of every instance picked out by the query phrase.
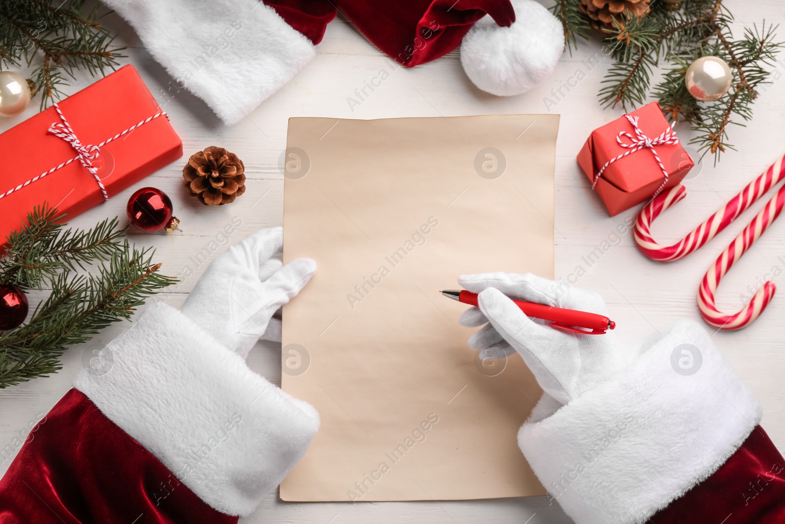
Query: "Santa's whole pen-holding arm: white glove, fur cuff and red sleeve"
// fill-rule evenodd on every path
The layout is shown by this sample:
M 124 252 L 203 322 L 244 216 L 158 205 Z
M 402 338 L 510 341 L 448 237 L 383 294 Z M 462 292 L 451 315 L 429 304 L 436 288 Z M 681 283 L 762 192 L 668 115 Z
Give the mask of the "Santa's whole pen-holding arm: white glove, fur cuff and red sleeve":
M 544 390 L 518 445 L 577 524 L 782 522 L 785 482 L 761 467 L 782 456 L 758 426 L 758 401 L 701 325 L 678 321 L 623 345 L 615 332 L 532 321 L 511 299 L 607 316 L 597 293 L 531 274 L 458 282 L 479 294 L 461 323 L 487 322 L 469 346 L 517 351 Z M 755 504 L 739 498 L 764 474 L 771 483 Z

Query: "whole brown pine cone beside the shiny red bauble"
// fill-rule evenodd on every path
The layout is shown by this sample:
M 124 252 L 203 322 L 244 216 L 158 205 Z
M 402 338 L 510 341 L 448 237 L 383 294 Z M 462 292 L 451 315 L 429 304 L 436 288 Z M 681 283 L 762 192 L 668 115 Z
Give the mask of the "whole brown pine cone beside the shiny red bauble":
M 214 145 L 188 159 L 183 178 L 188 192 L 205 205 L 230 203 L 245 192 L 243 161 Z

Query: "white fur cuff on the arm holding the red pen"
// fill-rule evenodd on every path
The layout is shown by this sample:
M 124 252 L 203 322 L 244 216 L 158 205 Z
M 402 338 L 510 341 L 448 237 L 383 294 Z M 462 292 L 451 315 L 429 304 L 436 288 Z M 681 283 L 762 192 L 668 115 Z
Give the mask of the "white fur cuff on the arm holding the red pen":
M 717 471 L 761 419 L 703 327 L 661 331 L 630 368 L 520 428 L 529 464 L 578 524 L 646 521 Z

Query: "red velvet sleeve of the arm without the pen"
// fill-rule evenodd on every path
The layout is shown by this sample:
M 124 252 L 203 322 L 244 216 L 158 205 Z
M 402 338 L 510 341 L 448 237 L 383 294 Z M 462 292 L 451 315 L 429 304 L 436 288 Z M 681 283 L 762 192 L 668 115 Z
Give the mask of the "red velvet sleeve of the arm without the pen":
M 31 431 L 0 480 L 2 524 L 234 524 L 70 390 Z

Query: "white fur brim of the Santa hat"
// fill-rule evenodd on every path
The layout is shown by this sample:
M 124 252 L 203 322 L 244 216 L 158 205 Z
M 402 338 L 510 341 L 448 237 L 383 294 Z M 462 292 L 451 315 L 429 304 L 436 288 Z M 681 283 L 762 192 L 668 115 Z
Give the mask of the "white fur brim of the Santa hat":
M 104 0 L 173 80 L 159 105 L 189 90 L 237 123 L 316 55 L 311 41 L 259 0 Z

